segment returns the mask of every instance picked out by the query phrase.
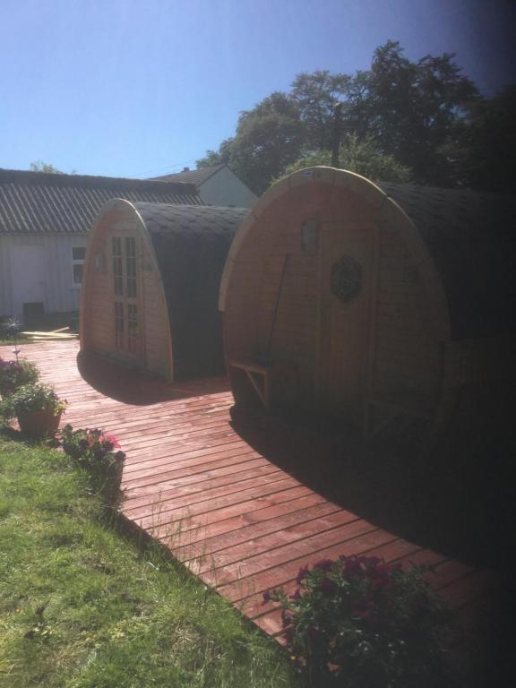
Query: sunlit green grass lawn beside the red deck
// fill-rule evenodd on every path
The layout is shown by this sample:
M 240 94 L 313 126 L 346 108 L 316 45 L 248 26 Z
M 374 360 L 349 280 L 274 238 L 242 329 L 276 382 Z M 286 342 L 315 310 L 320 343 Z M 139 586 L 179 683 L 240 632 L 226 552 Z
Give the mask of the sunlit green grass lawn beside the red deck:
M 223 599 L 109 527 L 64 454 L 0 433 L 0 685 L 300 684 Z

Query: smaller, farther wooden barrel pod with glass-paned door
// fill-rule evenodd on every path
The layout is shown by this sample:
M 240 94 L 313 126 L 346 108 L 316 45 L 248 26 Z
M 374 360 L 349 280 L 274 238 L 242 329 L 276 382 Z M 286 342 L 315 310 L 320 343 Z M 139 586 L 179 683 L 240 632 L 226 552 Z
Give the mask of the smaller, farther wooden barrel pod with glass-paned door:
M 246 209 L 107 202 L 90 233 L 81 348 L 168 380 L 224 367 L 220 276 Z

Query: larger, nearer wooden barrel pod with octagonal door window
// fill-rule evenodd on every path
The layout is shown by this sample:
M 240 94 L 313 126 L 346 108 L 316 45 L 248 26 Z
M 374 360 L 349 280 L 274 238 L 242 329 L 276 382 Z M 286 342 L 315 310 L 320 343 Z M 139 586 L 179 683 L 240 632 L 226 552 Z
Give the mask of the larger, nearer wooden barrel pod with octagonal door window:
M 514 211 L 333 168 L 271 186 L 220 288 L 236 401 L 321 409 L 370 434 L 439 416 L 465 375 L 507 374 Z

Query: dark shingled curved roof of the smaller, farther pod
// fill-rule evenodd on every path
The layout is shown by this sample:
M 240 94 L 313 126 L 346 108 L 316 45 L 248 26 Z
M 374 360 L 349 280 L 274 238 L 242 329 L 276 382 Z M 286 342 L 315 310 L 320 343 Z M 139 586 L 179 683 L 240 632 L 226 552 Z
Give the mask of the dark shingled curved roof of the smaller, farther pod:
M 174 377 L 224 370 L 219 286 L 247 208 L 133 203 L 150 233 L 168 303 Z

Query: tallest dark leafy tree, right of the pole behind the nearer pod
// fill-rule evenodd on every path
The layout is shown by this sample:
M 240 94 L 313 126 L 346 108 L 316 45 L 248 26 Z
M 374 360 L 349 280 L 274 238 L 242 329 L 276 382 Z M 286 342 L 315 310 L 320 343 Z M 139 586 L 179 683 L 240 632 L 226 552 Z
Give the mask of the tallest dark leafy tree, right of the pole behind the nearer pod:
M 369 72 L 357 73 L 345 112 L 353 131 L 371 133 L 386 153 L 413 169 L 417 182 L 452 185 L 443 147 L 477 90 L 451 54 L 411 62 L 398 42 L 374 51 Z

